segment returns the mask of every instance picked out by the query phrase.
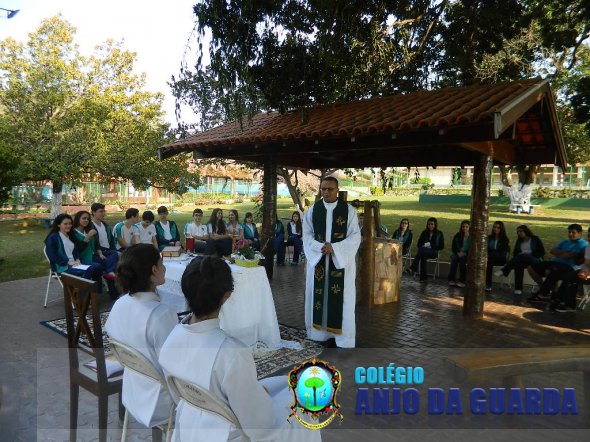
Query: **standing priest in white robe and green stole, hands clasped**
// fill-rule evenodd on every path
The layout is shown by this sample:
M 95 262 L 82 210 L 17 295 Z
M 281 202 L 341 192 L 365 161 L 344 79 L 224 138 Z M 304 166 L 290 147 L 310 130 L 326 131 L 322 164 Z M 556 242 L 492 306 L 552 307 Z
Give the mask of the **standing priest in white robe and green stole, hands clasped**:
M 338 347 L 353 348 L 356 253 L 361 232 L 356 210 L 338 199 L 338 180 L 327 177 L 320 188 L 322 199 L 303 219 L 305 327 L 314 341 L 335 338 Z

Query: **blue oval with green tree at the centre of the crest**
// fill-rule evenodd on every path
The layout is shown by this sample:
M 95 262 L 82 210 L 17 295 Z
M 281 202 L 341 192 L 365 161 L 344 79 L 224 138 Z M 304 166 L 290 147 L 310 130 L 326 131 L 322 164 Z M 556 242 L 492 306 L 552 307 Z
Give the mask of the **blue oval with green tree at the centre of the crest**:
M 329 407 L 334 395 L 331 374 L 317 365 L 306 368 L 299 376 L 296 395 L 297 402 L 309 411 Z

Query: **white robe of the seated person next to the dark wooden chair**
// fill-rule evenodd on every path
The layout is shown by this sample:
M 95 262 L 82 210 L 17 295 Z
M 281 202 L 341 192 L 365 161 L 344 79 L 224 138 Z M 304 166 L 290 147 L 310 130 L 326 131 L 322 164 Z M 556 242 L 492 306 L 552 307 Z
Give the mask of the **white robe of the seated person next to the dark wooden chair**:
M 178 316 L 153 292 L 122 296 L 115 302 L 105 324 L 108 335 L 144 355 L 158 371 L 162 345 L 178 324 Z M 148 428 L 168 421 L 172 398 L 166 385 L 133 370 L 123 373 L 123 405 Z

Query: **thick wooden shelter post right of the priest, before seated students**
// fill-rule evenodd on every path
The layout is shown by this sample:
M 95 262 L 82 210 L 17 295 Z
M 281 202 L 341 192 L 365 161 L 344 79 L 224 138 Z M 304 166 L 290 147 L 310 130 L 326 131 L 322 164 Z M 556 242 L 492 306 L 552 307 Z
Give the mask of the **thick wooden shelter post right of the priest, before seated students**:
M 492 166 L 491 156 L 480 155 L 473 168 L 469 232 L 471 245 L 467 256 L 467 289 L 463 299 L 463 316 L 470 318 L 483 317 Z

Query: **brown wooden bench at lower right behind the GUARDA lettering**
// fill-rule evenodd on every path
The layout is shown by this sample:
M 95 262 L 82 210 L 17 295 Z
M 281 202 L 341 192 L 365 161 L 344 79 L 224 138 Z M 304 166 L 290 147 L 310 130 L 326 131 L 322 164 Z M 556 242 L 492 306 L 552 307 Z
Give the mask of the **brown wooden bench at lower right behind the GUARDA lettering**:
M 501 379 L 506 388 L 522 388 L 522 376 L 527 374 L 581 371 L 584 379 L 583 397 L 586 409 L 590 404 L 590 347 L 588 346 L 478 351 L 446 356 L 443 364 L 445 372 L 456 382 Z

